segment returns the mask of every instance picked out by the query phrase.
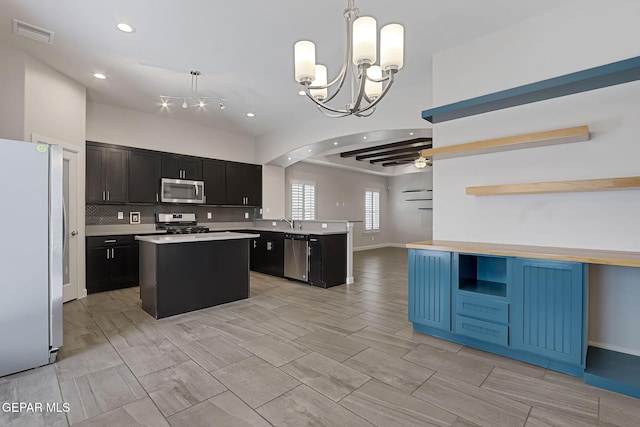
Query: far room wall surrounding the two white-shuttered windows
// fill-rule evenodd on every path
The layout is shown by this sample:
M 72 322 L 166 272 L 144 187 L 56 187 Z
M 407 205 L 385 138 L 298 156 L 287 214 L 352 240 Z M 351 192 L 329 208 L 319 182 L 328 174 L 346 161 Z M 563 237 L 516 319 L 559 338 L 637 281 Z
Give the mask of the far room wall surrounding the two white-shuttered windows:
M 296 163 L 285 170 L 286 217 L 291 216 L 291 180 L 316 184 L 316 219 L 354 221 L 353 247 L 385 246 L 392 242 L 388 178 L 311 163 Z M 380 232 L 364 231 L 364 191 L 380 191 Z

